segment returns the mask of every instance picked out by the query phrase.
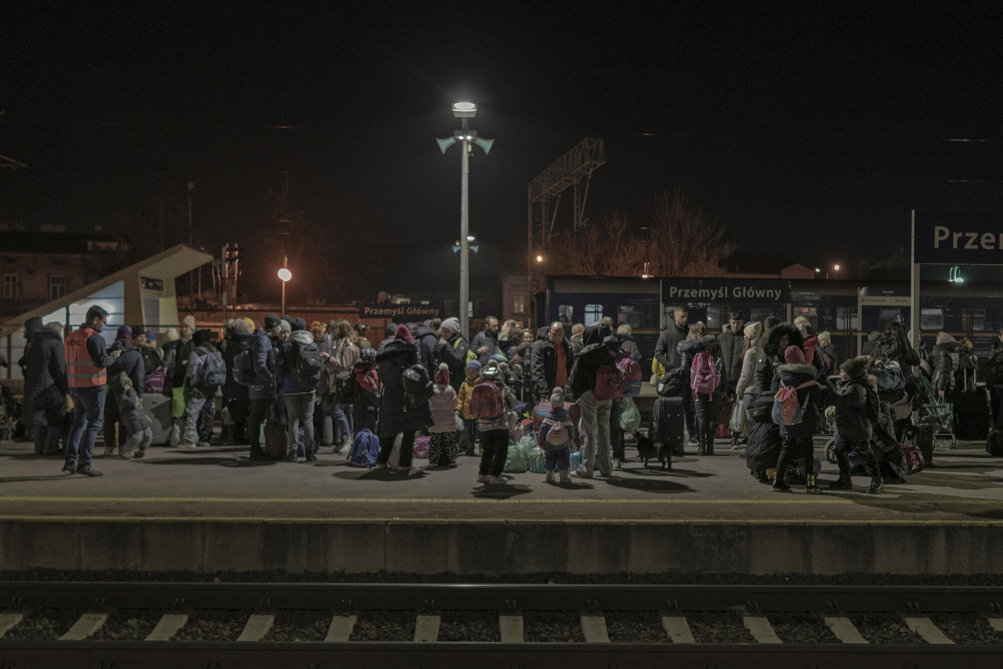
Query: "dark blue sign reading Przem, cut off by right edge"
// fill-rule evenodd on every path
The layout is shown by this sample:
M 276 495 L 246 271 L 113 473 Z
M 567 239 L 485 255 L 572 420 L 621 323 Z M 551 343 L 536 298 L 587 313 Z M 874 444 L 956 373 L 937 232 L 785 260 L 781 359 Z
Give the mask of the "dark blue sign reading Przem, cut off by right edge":
M 914 263 L 1003 265 L 1003 213 L 918 211 L 913 225 Z

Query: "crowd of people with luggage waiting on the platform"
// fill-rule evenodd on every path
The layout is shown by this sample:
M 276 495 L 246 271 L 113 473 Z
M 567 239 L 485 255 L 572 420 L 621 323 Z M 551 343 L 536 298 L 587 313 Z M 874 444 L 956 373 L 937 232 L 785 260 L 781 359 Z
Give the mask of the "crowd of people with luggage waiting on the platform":
M 107 313 L 91 307 L 65 341 L 60 323 L 26 323 L 24 415 L 37 454 L 56 454 L 63 441 L 67 473 L 101 475 L 92 465 L 92 449 L 102 426 L 104 456 L 144 455 L 152 438 L 144 392 L 171 402 L 171 444 L 182 449 L 210 444 L 216 397 L 222 394 L 218 438 L 249 443 L 252 460 L 312 461 L 323 449 L 341 453 L 360 434 L 371 433 L 379 441 L 376 466 L 407 470 L 415 440 L 427 435 L 434 463 L 452 465 L 460 453 L 475 455 L 479 448 L 477 480 L 500 484 L 512 431 L 543 402 L 549 402 L 539 431 L 547 480 L 555 479 L 555 471 L 562 481 L 569 475 L 609 476 L 627 459 L 623 399 L 604 384 L 618 360 L 640 362 L 642 354 L 630 326 L 614 332 L 609 318 L 570 331 L 554 322 L 533 332 L 487 317 L 469 342 L 456 318 L 436 318 L 390 324 L 376 346 L 362 324 L 308 324 L 268 314 L 262 323 L 230 319 L 215 345 L 211 332 L 197 329 L 187 316 L 164 333 L 161 347 L 152 332 L 127 326 L 117 329 L 109 347 L 101 335 L 106 322 Z M 989 358 L 987 385 L 998 420 L 1003 331 Z M 748 447 L 749 468 L 774 491 L 790 489 L 788 462 L 801 465 L 806 491 L 819 489 L 812 437 L 825 420 L 823 410 L 834 407 L 842 438 L 840 476 L 830 487 L 851 485 L 848 457 L 856 451 L 872 478 L 869 491 L 877 492 L 882 477 L 870 443 L 881 406 L 869 376 L 876 362 L 896 363 L 907 384 L 915 381 L 912 370 L 921 359 L 901 324 L 869 336 L 866 355 L 842 360 L 828 333 L 815 333 L 803 317 L 746 323 L 736 310 L 728 327 L 713 335 L 703 323 L 689 323 L 687 308 L 679 306 L 659 336 L 652 380 L 677 377 L 679 382 L 667 385 L 683 398 L 680 429 L 685 427 L 697 455 L 714 454 L 723 422 L 731 448 Z M 930 362 L 941 396 L 954 391 L 960 370 L 977 364 L 971 341 L 956 342 L 946 333 L 938 335 Z M 834 375 L 841 382 L 831 380 Z M 781 395 L 789 395 L 786 404 Z M 777 421 L 777 403 L 795 417 Z M 580 413 L 577 420 L 568 407 Z M 770 421 L 763 421 L 764 411 Z M 770 439 L 781 444 L 777 461 L 757 466 L 751 453 Z M 571 470 L 567 451 L 576 440 L 582 452 Z M 395 444 L 399 455 L 391 462 Z

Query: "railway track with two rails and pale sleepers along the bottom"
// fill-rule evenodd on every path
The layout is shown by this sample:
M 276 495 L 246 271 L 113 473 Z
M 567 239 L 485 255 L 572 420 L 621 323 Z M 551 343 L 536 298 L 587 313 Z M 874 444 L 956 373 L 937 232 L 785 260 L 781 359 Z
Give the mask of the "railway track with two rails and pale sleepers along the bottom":
M 0 583 L 0 669 L 1003 666 L 1003 587 Z

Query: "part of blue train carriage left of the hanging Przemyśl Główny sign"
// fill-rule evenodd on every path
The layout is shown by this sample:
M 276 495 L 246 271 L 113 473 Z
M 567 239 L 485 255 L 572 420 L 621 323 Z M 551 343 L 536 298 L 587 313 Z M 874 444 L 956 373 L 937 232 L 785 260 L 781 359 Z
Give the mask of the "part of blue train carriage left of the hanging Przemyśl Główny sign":
M 609 316 L 631 326 L 631 336 L 644 354 L 642 369 L 650 373 L 660 325 L 657 279 L 633 277 L 548 277 L 547 321 L 561 321 L 568 336 L 575 323 L 592 325 Z

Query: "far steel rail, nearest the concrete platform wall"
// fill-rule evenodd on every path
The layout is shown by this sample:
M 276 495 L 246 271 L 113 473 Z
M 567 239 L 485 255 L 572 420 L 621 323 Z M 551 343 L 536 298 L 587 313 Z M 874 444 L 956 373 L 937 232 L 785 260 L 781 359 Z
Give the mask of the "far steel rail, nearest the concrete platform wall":
M 1003 615 L 1003 587 L 0 582 L 0 607 Z

